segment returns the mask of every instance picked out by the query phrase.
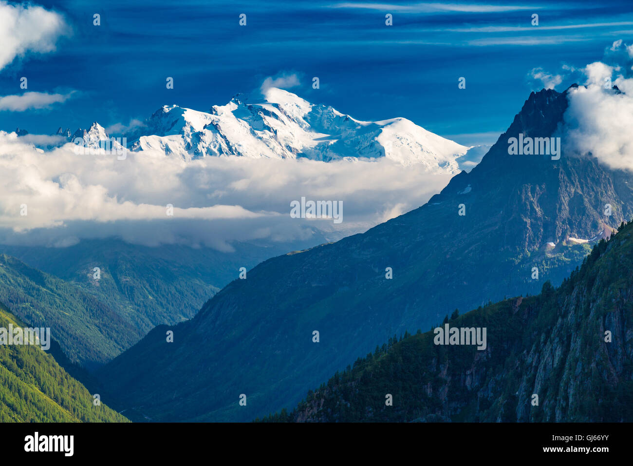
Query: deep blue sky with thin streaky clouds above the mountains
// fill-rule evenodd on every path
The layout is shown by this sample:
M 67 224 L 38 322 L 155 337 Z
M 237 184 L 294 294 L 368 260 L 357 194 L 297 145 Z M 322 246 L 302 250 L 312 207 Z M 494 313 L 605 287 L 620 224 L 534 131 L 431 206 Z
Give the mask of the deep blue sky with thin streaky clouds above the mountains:
M 37 4 L 65 16 L 68 37 L 52 53 L 27 53 L 1 69 L 0 95 L 25 92 L 23 76 L 28 91 L 75 92 L 47 109 L 0 111 L 6 131 L 128 124 L 173 103 L 208 111 L 268 76 L 296 74 L 290 91 L 356 119 L 406 117 L 459 143 L 492 143 L 543 87 L 532 69 L 560 75 L 561 90 L 580 79 L 562 65 L 584 67 L 613 41 L 633 41 L 630 0 Z M 92 25 L 94 13 L 101 26 Z M 462 76 L 466 89 L 458 89 Z

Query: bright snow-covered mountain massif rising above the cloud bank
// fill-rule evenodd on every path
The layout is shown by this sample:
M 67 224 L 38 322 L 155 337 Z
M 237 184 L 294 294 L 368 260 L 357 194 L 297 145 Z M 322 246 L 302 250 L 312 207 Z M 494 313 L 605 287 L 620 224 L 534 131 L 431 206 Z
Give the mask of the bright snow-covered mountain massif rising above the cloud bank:
M 325 162 L 387 157 L 425 165 L 430 172 L 472 168 L 472 161 L 463 157 L 469 147 L 410 120 L 360 121 L 275 87 L 256 96 L 237 94 L 209 113 L 162 107 L 128 141 L 134 151 L 160 150 L 185 160 L 223 155 Z M 460 157 L 467 162 L 463 166 Z

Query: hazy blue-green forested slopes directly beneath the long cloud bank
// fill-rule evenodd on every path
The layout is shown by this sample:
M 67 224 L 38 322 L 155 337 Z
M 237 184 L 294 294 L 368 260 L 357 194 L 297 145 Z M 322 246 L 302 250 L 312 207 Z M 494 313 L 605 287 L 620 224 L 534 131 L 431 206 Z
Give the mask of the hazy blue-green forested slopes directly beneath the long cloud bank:
M 73 363 L 94 370 L 156 325 L 194 316 L 240 267 L 294 246 L 236 243 L 234 252 L 219 252 L 114 238 L 63 248 L 0 245 L 0 296 L 18 318 L 51 327 Z

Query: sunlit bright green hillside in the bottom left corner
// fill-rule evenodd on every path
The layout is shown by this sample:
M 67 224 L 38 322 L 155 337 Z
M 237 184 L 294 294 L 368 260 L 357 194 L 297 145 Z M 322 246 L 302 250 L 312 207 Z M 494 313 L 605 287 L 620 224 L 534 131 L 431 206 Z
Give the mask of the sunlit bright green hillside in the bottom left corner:
M 23 327 L 0 305 L 0 327 Z M 39 346 L 0 345 L 0 422 L 128 422 Z

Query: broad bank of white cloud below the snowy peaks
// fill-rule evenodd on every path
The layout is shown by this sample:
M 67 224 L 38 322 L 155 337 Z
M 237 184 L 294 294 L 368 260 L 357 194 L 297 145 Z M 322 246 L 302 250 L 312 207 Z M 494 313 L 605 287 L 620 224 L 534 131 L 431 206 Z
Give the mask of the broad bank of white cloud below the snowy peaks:
M 37 138 L 32 139 L 37 141 Z M 450 175 L 390 160 L 246 159 L 185 162 L 161 152 L 77 155 L 37 150 L 0 132 L 0 242 L 65 246 L 118 236 L 231 250 L 235 241 L 328 239 L 365 231 L 424 204 Z M 293 200 L 342 201 L 342 223 L 290 216 Z M 173 205 L 168 215 L 167 205 Z M 27 215 L 22 215 L 26 207 Z

